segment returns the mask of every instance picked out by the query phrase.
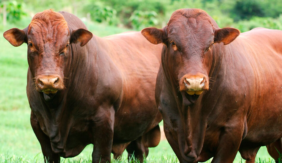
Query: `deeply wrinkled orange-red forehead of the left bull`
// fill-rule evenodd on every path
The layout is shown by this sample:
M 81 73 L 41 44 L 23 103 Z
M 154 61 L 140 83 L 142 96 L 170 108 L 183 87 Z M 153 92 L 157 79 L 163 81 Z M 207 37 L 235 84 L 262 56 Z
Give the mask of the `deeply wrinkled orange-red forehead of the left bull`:
M 45 50 L 45 43 L 53 44 L 55 47 L 60 46 L 68 41 L 67 36 L 69 36 L 69 28 L 64 16 L 52 10 L 38 12 L 32 18 L 28 28 L 28 40 L 36 41 L 39 52 Z

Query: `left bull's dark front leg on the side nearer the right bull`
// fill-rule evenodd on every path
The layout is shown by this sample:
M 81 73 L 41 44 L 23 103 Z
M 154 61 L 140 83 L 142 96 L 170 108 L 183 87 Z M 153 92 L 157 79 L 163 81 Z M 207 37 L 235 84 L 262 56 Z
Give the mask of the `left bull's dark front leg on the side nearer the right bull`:
M 111 109 L 99 108 L 97 116 L 93 117 L 93 163 L 110 163 L 113 145 L 113 126 L 115 121 L 115 111 Z

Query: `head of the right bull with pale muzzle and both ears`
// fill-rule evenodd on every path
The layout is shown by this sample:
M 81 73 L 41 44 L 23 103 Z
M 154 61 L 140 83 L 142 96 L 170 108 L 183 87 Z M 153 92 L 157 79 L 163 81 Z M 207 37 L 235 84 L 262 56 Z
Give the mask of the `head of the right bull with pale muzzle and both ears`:
M 166 46 L 162 54 L 163 69 L 169 73 L 169 80 L 177 83 L 175 89 L 182 94 L 184 104 L 189 105 L 209 89 L 213 44 L 222 42 L 227 45 L 240 32 L 235 28 L 214 28 L 205 12 L 199 12 L 196 18 L 175 13 L 166 27 L 145 28 L 142 35 L 153 44 Z

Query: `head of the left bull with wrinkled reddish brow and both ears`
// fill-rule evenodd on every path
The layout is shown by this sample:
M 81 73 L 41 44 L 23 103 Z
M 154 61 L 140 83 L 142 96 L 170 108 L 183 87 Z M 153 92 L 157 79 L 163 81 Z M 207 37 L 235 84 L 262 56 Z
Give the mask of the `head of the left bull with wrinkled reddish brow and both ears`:
M 42 13 L 48 12 L 49 15 Z M 4 32 L 4 37 L 13 46 L 28 45 L 28 65 L 34 77 L 35 88 L 42 92 L 46 101 L 64 90 L 64 72 L 71 60 L 72 43 L 84 46 L 92 33 L 86 29 L 73 30 L 58 12 L 46 10 L 37 13 L 27 28 L 12 28 Z

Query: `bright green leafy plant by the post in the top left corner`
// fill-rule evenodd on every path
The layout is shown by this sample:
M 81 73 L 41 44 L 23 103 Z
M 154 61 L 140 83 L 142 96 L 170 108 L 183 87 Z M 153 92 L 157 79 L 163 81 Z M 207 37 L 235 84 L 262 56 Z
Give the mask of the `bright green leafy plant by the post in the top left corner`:
M 0 7 L 3 9 L 4 4 L 6 5 L 7 20 L 8 21 L 19 21 L 23 16 L 26 16 L 26 12 L 23 10 L 25 4 L 17 1 L 1 1 Z M 3 17 L 3 13 L 1 14 Z

